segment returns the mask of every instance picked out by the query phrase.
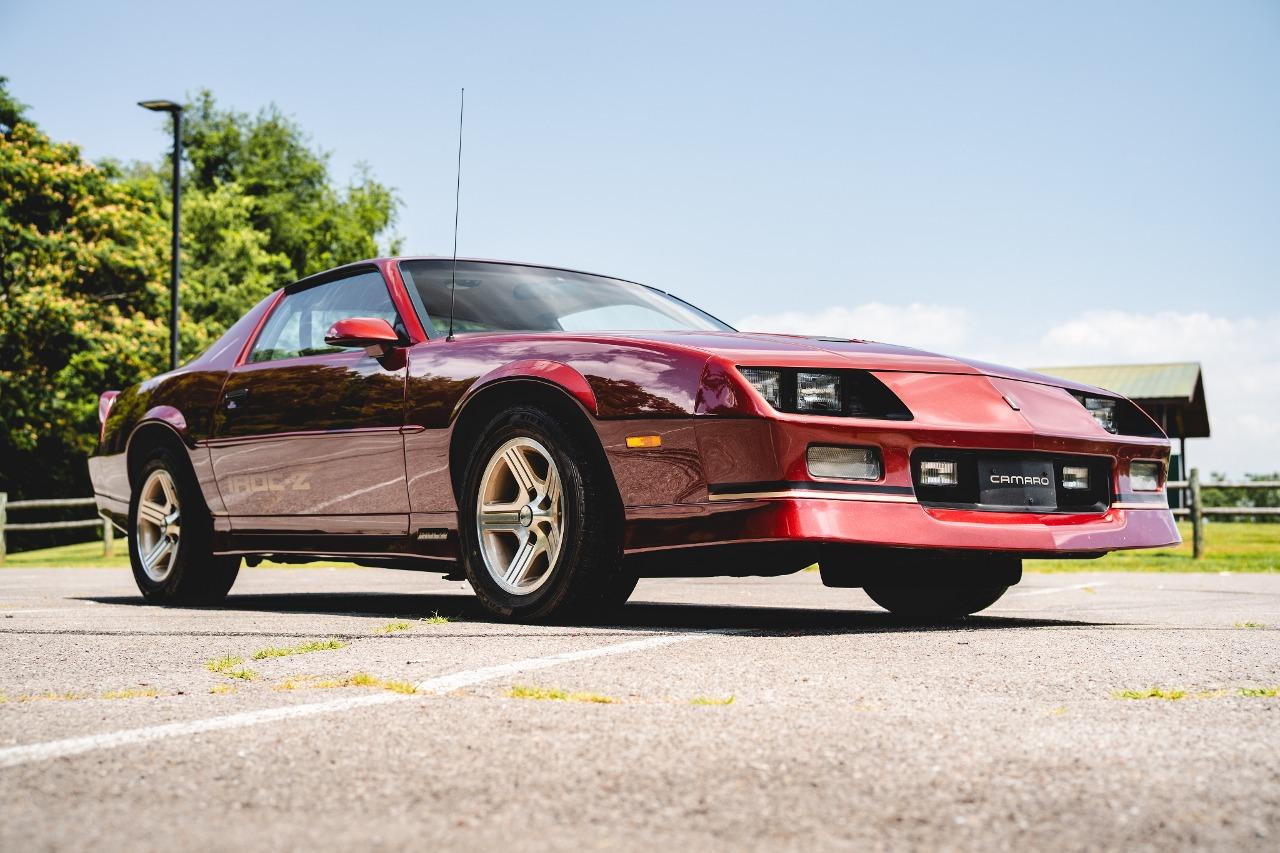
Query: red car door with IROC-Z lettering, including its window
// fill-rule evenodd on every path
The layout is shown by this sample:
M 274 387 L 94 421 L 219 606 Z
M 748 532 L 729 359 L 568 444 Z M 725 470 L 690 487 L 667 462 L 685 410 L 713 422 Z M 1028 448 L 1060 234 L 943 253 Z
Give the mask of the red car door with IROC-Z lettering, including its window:
M 209 450 L 234 534 L 407 534 L 403 351 L 325 345 L 347 318 L 403 328 L 376 268 L 287 291 L 228 377 Z

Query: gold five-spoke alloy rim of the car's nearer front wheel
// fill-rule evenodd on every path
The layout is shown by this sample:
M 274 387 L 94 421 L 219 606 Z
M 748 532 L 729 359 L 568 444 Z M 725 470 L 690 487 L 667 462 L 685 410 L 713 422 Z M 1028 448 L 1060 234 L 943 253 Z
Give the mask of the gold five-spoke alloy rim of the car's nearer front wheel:
M 504 592 L 527 596 L 552 575 L 564 539 L 561 476 L 550 452 L 532 438 L 497 450 L 476 501 L 480 555 Z

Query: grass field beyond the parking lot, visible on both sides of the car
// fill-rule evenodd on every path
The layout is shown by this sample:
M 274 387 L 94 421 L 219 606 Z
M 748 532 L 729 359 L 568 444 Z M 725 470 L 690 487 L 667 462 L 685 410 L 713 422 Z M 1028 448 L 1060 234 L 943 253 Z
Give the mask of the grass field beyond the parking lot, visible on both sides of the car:
M 1192 526 L 1179 523 L 1183 544 L 1157 551 L 1116 551 L 1101 560 L 1028 560 L 1027 571 L 1276 571 L 1280 573 L 1280 524 L 1240 524 L 1211 521 L 1206 525 L 1204 558 L 1192 560 Z M 268 567 L 287 564 L 264 562 Z M 314 564 L 312 564 L 314 565 Z M 351 564 L 326 562 L 326 566 L 348 567 Z M 41 548 L 10 553 L 9 569 L 105 566 L 128 569 L 127 543 L 116 540 L 115 555 L 102 556 L 101 542 L 59 548 Z

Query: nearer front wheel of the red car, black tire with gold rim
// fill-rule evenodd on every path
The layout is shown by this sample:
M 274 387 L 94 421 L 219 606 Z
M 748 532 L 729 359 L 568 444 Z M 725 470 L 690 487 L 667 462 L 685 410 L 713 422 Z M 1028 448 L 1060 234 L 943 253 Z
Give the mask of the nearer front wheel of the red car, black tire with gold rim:
M 489 612 L 545 621 L 596 617 L 626 602 L 622 508 L 599 446 L 550 412 L 494 418 L 463 478 L 467 580 Z

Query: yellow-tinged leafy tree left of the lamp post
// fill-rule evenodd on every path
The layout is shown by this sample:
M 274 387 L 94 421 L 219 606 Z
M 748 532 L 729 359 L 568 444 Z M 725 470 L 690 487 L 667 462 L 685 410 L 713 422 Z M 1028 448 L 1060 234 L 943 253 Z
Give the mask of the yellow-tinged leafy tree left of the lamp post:
M 97 392 L 163 361 L 165 224 L 143 187 L 32 126 L 3 79 L 0 122 L 0 489 L 83 494 Z

